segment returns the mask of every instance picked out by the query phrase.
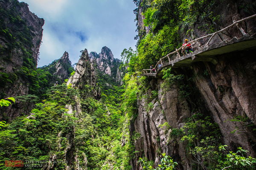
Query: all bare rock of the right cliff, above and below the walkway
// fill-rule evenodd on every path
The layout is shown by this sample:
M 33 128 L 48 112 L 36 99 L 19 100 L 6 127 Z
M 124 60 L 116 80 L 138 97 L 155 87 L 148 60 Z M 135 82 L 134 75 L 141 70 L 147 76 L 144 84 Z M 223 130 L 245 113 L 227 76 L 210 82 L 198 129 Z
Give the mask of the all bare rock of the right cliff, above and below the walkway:
M 215 23 L 217 30 L 232 24 L 233 20 L 248 17 L 249 14 L 239 8 L 242 3 L 241 0 L 235 3 L 225 1 L 215 6 L 215 16 L 221 16 L 221 20 Z M 226 10 L 223 10 L 224 8 Z M 207 22 L 209 21 L 198 21 L 192 28 L 192 32 L 184 33 L 180 30 L 181 41 L 188 37 L 206 35 L 207 33 L 200 29 L 202 28 L 200 26 Z M 256 20 L 252 19 L 242 23 L 241 26 L 246 33 L 253 35 L 256 33 L 253 26 L 255 23 Z M 141 25 L 140 20 L 139 25 Z M 215 36 L 211 44 L 241 36 L 241 31 L 233 27 L 225 33 Z M 207 41 L 196 42 L 194 46 L 200 48 L 200 45 Z M 143 156 L 148 160 L 155 161 L 157 166 L 160 164 L 160 153 L 172 156 L 174 161 L 179 163 L 178 169 L 180 170 L 202 168 L 193 165 L 198 160 L 194 160 L 195 157 L 188 152 L 188 143 L 182 142 L 178 133 L 178 130 L 184 128 L 188 119 L 197 122 L 195 113 L 202 113 L 204 117 L 209 116 L 211 121 L 218 125 L 221 144 L 227 144 L 230 150 L 242 147 L 249 150 L 249 154 L 255 157 L 256 138 L 253 128 L 256 125 L 256 88 L 254 85 L 256 60 L 253 58 L 254 51 L 255 49 L 250 49 L 215 56 L 218 60 L 217 65 L 210 62 L 198 62 L 192 64 L 190 68 L 173 69 L 173 74 L 184 75 L 185 82 L 182 85 L 187 87 L 185 92 L 184 86 L 175 84 L 166 91 L 163 88 L 164 81 L 162 79 L 148 79 L 150 88 L 145 92 L 145 97 L 138 97 L 139 113 L 136 119 L 131 121 L 129 127 L 130 136 L 140 133 L 140 137 L 134 140 L 137 153 L 136 158 L 131 161 L 133 170 L 141 168 L 137 161 Z M 153 96 L 152 91 L 157 91 L 158 95 Z M 162 125 L 168 125 L 168 127 Z M 203 129 L 203 127 L 201 128 Z M 207 129 L 207 127 L 204 128 Z M 197 135 L 199 136 L 199 132 Z M 217 136 L 215 137 L 217 139 Z M 195 140 L 193 145 L 200 146 L 200 141 Z M 197 159 L 199 162 L 201 161 L 200 157 Z

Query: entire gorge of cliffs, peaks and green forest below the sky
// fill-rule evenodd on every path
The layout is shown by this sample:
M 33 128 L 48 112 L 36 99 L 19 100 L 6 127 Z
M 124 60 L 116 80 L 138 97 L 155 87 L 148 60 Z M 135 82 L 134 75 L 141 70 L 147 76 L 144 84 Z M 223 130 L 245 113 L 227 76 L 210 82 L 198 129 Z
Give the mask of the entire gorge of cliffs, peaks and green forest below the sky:
M 0 0 L 1 170 L 256 169 L 256 2 L 133 2 L 136 50 L 38 67 L 46 21 Z

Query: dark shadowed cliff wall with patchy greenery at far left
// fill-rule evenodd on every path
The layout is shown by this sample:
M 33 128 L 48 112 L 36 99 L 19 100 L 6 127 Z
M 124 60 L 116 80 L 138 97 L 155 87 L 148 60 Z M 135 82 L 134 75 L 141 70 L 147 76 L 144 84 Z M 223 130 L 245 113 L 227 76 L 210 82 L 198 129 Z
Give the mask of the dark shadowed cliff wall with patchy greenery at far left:
M 0 8 L 0 98 L 27 95 L 35 87 L 33 71 L 37 66 L 44 19 L 17 0 L 0 0 Z M 20 114 L 19 108 L 23 105 L 17 102 L 12 111 L 1 109 L 1 112 L 15 117 Z

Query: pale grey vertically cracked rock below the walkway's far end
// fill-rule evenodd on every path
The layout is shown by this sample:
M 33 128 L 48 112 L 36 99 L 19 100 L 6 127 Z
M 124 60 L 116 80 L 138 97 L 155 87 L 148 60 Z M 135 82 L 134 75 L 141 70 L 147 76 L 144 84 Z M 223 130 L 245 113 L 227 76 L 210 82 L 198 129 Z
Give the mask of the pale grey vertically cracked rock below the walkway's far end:
M 152 90 L 158 90 L 158 97 L 151 101 L 154 107 L 148 110 L 148 99 L 138 100 L 139 114 L 134 123 L 130 125 L 130 133 L 134 133 L 133 130 L 135 130 L 141 134 L 141 137 L 135 141 L 135 150 L 140 152 L 136 153 L 136 159 L 131 161 L 135 170 L 140 169 L 137 161 L 143 155 L 149 160 L 154 160 L 156 166 L 160 164 L 160 153 L 167 153 L 177 162 L 188 161 L 185 147 L 169 141 L 169 134 L 172 130 L 166 131 L 160 125 L 168 122 L 172 128 L 182 127 L 184 119 L 191 115 L 191 108 L 186 100 L 179 99 L 180 96 L 175 87 L 172 91 L 162 94 L 163 89 L 160 88 L 162 83 L 163 80 L 151 80 L 151 88 L 145 95 L 151 96 Z

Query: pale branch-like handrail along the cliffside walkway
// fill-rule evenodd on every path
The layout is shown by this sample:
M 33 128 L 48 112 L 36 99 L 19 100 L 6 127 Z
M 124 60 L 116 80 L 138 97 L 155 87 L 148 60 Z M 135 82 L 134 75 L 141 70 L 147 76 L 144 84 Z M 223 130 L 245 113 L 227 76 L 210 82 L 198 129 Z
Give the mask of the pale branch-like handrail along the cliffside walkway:
M 184 48 L 186 47 L 186 45 L 189 44 L 189 43 L 192 43 L 192 42 L 195 42 L 195 41 L 198 41 L 198 40 L 201 40 L 201 39 L 204 39 L 204 38 L 207 38 L 207 37 L 210 37 L 210 36 L 211 36 L 210 39 L 208 40 L 208 42 L 206 43 L 206 47 L 208 47 L 209 42 L 212 40 L 212 38 L 213 38 L 216 34 L 221 33 L 222 31 L 225 31 L 226 29 L 228 29 L 228 28 L 230 28 L 230 27 L 232 27 L 232 26 L 235 26 L 235 25 L 239 28 L 239 30 L 241 31 L 241 33 L 242 33 L 243 35 L 245 35 L 245 34 L 246 34 L 245 31 L 243 30 L 243 28 L 241 28 L 241 26 L 239 26 L 238 23 L 241 23 L 241 22 L 243 22 L 243 21 L 245 21 L 245 20 L 249 20 L 249 19 L 254 18 L 254 17 L 256 17 L 256 14 L 251 15 L 250 17 L 246 17 L 246 18 L 244 18 L 244 19 L 242 19 L 242 20 L 239 20 L 239 21 L 235 21 L 235 20 L 234 20 L 234 21 L 233 21 L 233 24 L 231 24 L 230 26 L 227 26 L 226 28 L 223 28 L 223 29 L 221 29 L 221 30 L 219 30 L 219 31 L 216 31 L 215 33 L 212 33 L 212 34 L 208 34 L 208 35 L 206 35 L 206 36 L 204 36 L 204 37 L 200 37 L 200 38 L 198 38 L 198 39 L 196 39 L 196 40 L 189 41 L 188 43 L 182 45 L 179 49 L 176 48 L 175 51 L 173 51 L 173 52 L 167 54 L 165 57 L 161 58 L 161 59 L 157 62 L 157 64 L 156 64 L 155 67 L 154 67 L 155 72 L 156 72 L 155 74 L 157 74 L 157 72 L 158 72 L 159 69 L 160 69 L 160 68 L 158 68 L 159 63 L 161 62 L 161 64 L 163 65 L 162 59 L 165 59 L 166 57 L 168 57 L 169 62 L 171 62 L 169 55 L 172 55 L 172 54 L 175 54 L 175 53 L 177 53 L 178 56 L 180 57 L 179 51 L 181 50 L 181 53 L 184 54 L 184 53 L 183 53 L 183 50 L 184 50 Z M 157 70 L 157 69 L 158 69 L 158 70 Z M 146 74 L 148 74 L 147 70 L 151 71 L 150 74 L 154 74 L 154 73 L 152 73 L 152 69 L 143 69 L 143 73 L 145 74 L 145 71 L 146 71 Z

